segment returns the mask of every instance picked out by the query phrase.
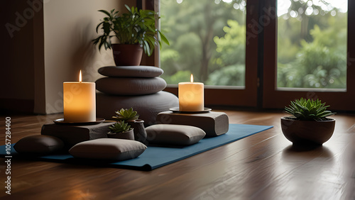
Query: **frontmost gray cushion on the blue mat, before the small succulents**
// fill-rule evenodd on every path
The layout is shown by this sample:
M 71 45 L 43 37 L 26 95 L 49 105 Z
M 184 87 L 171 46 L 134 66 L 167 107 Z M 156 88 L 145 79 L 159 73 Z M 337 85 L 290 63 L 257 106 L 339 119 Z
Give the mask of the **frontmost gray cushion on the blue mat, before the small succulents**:
M 135 140 L 100 138 L 77 143 L 69 152 L 81 158 L 129 160 L 141 155 L 146 148 L 146 145 Z

